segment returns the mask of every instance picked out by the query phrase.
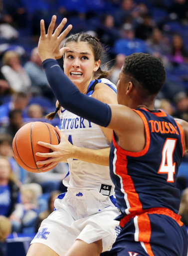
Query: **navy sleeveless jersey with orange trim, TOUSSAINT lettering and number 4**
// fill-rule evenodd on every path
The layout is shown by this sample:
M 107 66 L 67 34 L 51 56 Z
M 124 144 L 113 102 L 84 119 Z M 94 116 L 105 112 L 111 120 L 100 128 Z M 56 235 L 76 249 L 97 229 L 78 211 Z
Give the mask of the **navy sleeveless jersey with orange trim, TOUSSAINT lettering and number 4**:
M 176 187 L 178 168 L 184 155 L 183 129 L 161 110 L 135 110 L 143 119 L 146 145 L 130 152 L 117 145 L 114 135 L 110 151 L 110 174 L 115 184 L 119 217 L 163 207 L 178 213 L 180 190 Z

